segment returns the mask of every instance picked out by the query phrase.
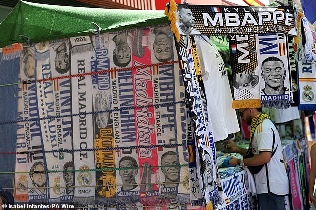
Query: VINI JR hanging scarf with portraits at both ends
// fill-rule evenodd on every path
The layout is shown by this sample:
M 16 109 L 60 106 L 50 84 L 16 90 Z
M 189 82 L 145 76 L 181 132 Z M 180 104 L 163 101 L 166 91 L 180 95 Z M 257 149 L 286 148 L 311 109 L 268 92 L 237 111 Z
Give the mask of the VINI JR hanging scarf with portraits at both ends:
M 71 73 L 69 58 L 69 40 L 52 40 L 50 45 L 50 65 L 52 77 L 69 76 Z M 53 80 L 55 116 L 71 115 L 71 79 Z M 72 118 L 57 118 L 56 137 L 58 147 L 59 170 L 65 171 L 59 174 L 60 202 L 72 202 L 75 186 L 73 153 L 63 152 L 65 149 L 72 150 Z

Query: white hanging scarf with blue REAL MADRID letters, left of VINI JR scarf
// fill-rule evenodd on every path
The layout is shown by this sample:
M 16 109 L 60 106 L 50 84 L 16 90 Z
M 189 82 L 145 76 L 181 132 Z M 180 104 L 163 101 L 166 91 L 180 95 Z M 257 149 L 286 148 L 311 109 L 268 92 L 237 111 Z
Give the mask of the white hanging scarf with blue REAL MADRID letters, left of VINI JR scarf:
M 52 78 L 50 55 L 49 55 L 49 42 L 38 43 L 35 45 L 36 53 L 35 57 L 38 57 L 36 64 L 36 79 L 48 79 Z M 54 106 L 54 90 L 52 81 L 42 81 L 37 85 L 37 103 L 38 114 L 40 118 L 53 117 L 55 115 Z M 46 170 L 59 171 L 59 153 L 56 137 L 56 120 L 54 118 L 47 120 L 40 120 L 40 129 L 42 135 L 42 145 L 45 152 Z M 37 175 L 36 173 L 33 177 Z M 60 176 L 59 173 L 48 173 L 47 182 L 47 195 L 51 202 L 59 202 L 60 194 Z M 47 177 L 46 176 L 46 177 Z

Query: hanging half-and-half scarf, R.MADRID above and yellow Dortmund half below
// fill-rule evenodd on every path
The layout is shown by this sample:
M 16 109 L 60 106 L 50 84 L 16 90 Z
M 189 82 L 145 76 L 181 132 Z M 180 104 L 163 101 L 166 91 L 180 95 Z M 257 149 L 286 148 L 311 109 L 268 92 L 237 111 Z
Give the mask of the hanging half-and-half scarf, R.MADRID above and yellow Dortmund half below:
M 108 34 L 93 37 L 95 57 L 91 60 L 91 72 L 110 69 L 109 36 Z M 111 93 L 111 73 L 92 75 L 93 105 L 95 111 L 113 109 Z M 95 148 L 114 147 L 113 113 L 94 114 Z M 96 169 L 115 168 L 115 150 L 95 151 Z M 116 171 L 96 172 L 95 203 L 113 205 L 116 202 Z M 104 186 L 102 186 L 104 185 Z

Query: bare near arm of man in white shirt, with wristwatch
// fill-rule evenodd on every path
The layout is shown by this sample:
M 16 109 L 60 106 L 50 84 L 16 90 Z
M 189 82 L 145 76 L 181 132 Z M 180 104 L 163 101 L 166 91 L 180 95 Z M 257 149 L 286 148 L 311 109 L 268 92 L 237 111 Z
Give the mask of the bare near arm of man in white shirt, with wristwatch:
M 263 151 L 251 158 L 243 159 L 243 163 L 247 166 L 259 166 L 268 163 L 271 160 L 271 156 L 271 152 Z M 235 157 L 231 157 L 228 163 L 230 165 L 239 165 L 240 160 Z

